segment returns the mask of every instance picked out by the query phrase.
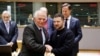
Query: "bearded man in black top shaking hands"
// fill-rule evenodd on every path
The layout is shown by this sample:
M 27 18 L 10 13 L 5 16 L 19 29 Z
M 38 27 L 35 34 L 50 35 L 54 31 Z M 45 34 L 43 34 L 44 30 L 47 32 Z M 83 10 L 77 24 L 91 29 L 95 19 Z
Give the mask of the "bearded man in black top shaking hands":
M 71 56 L 74 43 L 74 34 L 66 29 L 63 15 L 56 14 L 53 19 L 55 31 L 51 34 L 49 44 L 52 46 L 51 53 L 55 56 Z

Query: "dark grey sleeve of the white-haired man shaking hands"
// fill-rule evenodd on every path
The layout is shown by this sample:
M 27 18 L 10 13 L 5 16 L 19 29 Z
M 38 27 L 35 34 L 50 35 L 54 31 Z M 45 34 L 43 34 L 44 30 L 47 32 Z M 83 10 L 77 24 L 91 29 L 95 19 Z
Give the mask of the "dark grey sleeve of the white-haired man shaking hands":
M 28 26 L 24 29 L 23 44 L 25 44 L 25 46 L 31 51 L 44 53 L 46 47 L 36 42 L 35 34 L 37 33 L 35 33 L 34 31 L 34 29 Z

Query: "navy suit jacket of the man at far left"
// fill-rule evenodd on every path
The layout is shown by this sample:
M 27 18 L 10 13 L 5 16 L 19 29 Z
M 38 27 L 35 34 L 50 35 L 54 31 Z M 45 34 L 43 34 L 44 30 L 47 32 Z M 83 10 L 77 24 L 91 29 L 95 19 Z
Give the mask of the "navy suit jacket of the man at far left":
M 10 21 L 9 33 L 6 30 L 4 22 L 0 21 L 0 45 L 6 45 L 13 42 L 12 51 L 17 48 L 18 27 L 14 21 Z

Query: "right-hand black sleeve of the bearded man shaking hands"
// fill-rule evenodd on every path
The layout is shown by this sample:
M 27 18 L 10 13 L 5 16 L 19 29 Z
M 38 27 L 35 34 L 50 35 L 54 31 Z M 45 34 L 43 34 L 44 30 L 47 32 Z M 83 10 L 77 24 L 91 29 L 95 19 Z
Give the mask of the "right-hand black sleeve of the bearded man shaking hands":
M 60 48 L 53 48 L 52 52 L 54 54 L 66 54 L 69 53 L 72 49 L 74 43 L 74 34 L 71 31 L 68 31 L 64 39 L 63 46 Z

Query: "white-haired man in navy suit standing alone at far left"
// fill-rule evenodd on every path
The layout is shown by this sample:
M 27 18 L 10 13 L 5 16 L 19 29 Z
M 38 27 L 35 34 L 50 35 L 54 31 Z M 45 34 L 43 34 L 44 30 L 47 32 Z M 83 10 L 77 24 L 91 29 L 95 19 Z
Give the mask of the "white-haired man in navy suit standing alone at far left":
M 0 45 L 10 45 L 12 51 L 16 51 L 17 37 L 17 24 L 11 21 L 11 14 L 8 11 L 3 11 L 0 21 Z

